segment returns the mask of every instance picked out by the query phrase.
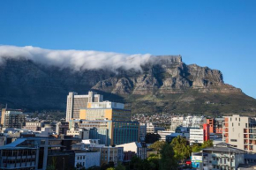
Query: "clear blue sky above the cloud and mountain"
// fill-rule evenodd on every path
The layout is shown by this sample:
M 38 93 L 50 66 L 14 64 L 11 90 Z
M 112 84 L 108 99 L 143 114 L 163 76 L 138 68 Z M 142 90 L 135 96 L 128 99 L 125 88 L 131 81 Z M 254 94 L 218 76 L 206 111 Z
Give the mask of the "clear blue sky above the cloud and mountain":
M 182 55 L 256 98 L 255 0 L 1 0 L 0 44 Z

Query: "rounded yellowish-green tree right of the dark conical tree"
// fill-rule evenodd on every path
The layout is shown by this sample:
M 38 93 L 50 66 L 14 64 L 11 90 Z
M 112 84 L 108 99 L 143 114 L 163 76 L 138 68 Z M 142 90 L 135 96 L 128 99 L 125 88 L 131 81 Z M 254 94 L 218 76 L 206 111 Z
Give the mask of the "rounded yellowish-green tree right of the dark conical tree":
M 171 141 L 173 151 L 175 152 L 175 158 L 184 163 L 185 159 L 191 156 L 191 147 L 184 137 L 176 137 Z

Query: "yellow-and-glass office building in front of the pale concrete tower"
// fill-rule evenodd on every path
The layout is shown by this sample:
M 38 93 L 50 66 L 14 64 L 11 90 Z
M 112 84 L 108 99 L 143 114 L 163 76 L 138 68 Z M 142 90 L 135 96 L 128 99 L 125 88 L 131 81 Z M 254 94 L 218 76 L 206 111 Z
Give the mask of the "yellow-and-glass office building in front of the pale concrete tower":
M 80 128 L 90 129 L 90 138 L 101 144 L 125 144 L 139 141 L 139 122 L 132 122 L 131 110 L 115 102 L 92 102 L 80 109 Z M 72 120 L 70 121 L 72 122 Z

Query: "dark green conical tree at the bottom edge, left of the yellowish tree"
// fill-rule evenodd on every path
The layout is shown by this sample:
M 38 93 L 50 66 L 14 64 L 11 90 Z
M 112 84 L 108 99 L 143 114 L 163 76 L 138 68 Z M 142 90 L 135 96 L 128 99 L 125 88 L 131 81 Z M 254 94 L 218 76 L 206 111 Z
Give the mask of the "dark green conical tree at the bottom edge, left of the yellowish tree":
M 174 157 L 175 152 L 171 144 L 164 144 L 160 152 L 160 170 L 175 170 L 177 169 L 177 159 Z

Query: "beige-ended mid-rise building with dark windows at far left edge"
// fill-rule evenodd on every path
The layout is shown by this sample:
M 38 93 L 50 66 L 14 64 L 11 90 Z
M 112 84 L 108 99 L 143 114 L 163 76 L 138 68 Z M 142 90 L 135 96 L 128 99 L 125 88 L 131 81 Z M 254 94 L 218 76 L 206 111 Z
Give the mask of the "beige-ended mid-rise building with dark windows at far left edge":
M 26 118 L 23 112 L 13 109 L 2 109 L 1 124 L 4 128 L 18 128 L 25 126 Z

